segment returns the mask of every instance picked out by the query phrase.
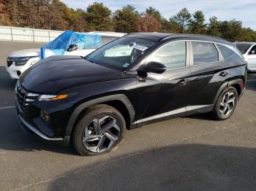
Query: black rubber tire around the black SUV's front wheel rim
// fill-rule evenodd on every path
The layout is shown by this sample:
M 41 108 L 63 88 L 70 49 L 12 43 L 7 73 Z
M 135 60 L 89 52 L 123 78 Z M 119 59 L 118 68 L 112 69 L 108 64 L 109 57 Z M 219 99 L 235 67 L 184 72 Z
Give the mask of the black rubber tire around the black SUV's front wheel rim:
M 92 120 L 100 119 L 100 117 L 107 117 L 107 116 L 110 117 L 110 119 L 115 119 L 116 123 L 118 124 L 118 128 L 120 129 L 120 132 L 118 131 L 118 139 L 112 144 L 112 146 L 110 146 L 110 149 L 107 149 L 104 152 L 92 152 L 89 149 L 86 149 L 83 143 L 86 127 L 89 126 L 89 123 Z M 121 113 L 118 112 L 118 110 L 113 108 L 112 106 L 108 106 L 105 104 L 97 104 L 94 106 L 90 106 L 89 109 L 86 109 L 85 114 L 83 114 L 83 117 L 77 123 L 72 133 L 72 144 L 79 155 L 83 155 L 83 156 L 84 155 L 90 155 L 90 156 L 101 155 L 106 152 L 110 152 L 114 147 L 116 147 L 116 145 L 124 139 L 125 132 L 126 132 L 126 122 L 124 120 L 124 117 L 121 115 Z M 107 140 L 107 139 L 104 139 L 104 140 Z

